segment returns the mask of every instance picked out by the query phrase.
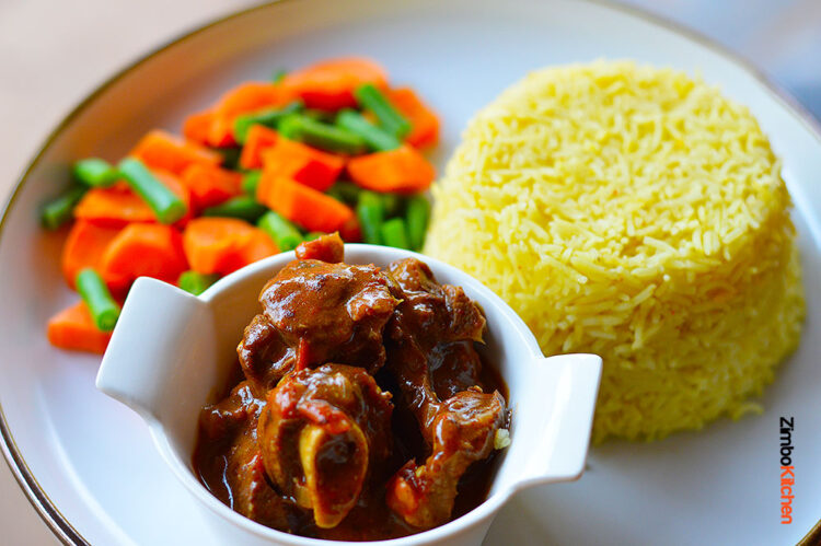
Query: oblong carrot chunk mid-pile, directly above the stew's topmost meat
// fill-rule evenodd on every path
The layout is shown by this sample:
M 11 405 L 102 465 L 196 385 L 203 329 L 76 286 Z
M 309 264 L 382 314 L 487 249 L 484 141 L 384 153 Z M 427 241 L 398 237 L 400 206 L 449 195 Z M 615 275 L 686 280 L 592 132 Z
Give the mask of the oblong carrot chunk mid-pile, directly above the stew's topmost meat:
M 256 198 L 308 231 L 333 233 L 354 218 L 354 211 L 346 205 L 282 176 L 263 176 Z

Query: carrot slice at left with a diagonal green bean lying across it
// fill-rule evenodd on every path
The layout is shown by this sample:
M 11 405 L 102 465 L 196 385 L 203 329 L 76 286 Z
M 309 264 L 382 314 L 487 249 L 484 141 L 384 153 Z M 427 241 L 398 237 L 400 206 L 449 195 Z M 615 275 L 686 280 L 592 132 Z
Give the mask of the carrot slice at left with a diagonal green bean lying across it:
M 173 174 L 160 170 L 151 172 L 185 202 L 188 214 L 181 220 L 181 223 L 185 223 L 190 216 L 190 191 Z M 74 207 L 74 218 L 109 228 L 123 228 L 130 222 L 157 221 L 151 208 L 125 183 L 86 191 Z

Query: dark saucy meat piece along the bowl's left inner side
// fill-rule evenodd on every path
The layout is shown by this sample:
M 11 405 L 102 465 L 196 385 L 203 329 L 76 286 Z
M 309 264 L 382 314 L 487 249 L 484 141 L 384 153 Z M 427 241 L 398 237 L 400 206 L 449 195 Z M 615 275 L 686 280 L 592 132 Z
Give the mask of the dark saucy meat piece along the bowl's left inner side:
M 289 531 L 297 507 L 281 498 L 266 479 L 262 452 L 256 441 L 259 411 L 265 403 L 254 397 L 247 382 L 200 416 L 200 430 L 210 441 L 226 442 L 223 497 L 236 512 L 269 527 Z M 219 496 L 219 495 L 218 495 Z

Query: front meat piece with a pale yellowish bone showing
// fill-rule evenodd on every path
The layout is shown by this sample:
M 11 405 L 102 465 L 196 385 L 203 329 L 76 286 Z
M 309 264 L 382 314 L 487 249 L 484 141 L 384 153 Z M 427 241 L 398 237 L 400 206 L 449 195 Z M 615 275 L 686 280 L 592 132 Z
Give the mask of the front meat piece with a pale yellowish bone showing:
M 325 364 L 286 376 L 268 394 L 258 425 L 268 476 L 336 526 L 355 507 L 369 468 L 391 453 L 391 394 L 361 368 Z

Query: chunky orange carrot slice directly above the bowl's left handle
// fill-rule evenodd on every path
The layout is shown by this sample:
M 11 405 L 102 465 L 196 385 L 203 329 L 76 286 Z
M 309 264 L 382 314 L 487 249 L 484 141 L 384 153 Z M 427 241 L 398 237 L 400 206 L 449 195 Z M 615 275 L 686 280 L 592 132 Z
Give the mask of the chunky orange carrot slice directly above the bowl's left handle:
M 176 282 L 188 269 L 183 252 L 183 237 L 171 225 L 132 223 L 120 231 L 108 245 L 101 274 L 128 279 L 152 277 Z

